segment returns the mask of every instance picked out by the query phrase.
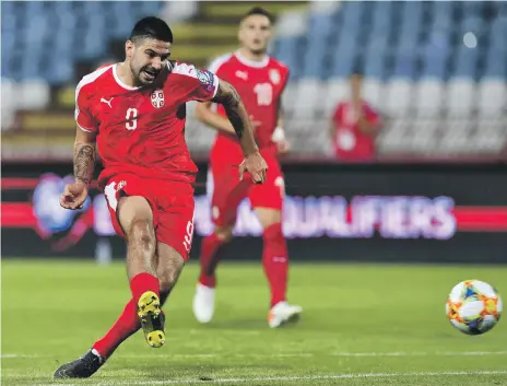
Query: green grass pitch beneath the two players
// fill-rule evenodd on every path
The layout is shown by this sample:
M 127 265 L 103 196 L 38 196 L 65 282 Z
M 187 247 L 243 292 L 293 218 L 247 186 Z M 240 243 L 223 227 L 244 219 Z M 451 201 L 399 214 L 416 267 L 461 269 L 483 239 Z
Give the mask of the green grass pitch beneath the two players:
M 507 267 L 292 266 L 297 326 L 272 330 L 260 264 L 219 271 L 215 318 L 191 312 L 197 265 L 165 306 L 166 344 L 132 336 L 92 378 L 54 382 L 129 297 L 122 262 L 2 261 L 2 385 L 507 385 L 507 321 L 469 337 L 445 315 L 464 279 L 507 296 Z

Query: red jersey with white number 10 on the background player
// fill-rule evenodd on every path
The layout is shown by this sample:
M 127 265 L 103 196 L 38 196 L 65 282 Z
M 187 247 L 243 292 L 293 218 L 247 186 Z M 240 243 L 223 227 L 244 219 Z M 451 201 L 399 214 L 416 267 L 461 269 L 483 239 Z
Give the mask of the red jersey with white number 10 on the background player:
M 255 128 L 257 144 L 262 151 L 275 154 L 271 136 L 276 128 L 279 105 L 288 80 L 287 67 L 269 56 L 262 61 L 251 61 L 234 52 L 216 58 L 209 70 L 236 87 L 251 120 L 260 122 Z M 226 116 L 223 106 L 217 106 L 217 112 Z M 211 156 L 241 162 L 237 138 L 219 131 Z

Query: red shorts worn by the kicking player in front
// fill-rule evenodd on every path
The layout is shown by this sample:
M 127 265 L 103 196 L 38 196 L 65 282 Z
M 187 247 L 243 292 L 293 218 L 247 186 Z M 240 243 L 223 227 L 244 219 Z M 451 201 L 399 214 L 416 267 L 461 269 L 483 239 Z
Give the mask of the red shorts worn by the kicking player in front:
M 193 188 L 188 183 L 142 178 L 130 173 L 111 177 L 104 195 L 107 199 L 113 226 L 118 235 L 125 232 L 118 221 L 121 196 L 144 197 L 153 211 L 156 241 L 175 248 L 187 260 L 193 235 Z

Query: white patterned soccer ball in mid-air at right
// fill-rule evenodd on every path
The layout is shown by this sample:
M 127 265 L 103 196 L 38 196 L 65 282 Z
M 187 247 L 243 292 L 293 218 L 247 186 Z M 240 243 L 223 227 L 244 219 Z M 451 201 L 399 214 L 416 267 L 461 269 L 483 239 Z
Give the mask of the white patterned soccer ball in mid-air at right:
M 450 292 L 446 314 L 461 332 L 481 335 L 498 323 L 502 306 L 502 297 L 492 285 L 484 281 L 465 280 Z

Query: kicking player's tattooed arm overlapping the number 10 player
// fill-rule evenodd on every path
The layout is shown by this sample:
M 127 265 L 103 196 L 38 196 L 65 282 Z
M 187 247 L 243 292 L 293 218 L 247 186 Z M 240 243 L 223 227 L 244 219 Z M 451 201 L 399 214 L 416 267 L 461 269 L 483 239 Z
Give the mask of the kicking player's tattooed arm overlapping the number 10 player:
M 245 161 L 239 167 L 239 178 L 243 179 L 244 172 L 249 172 L 255 183 L 262 184 L 266 180 L 268 167 L 259 153 L 247 109 L 238 92 L 231 83 L 220 80 L 219 90 L 212 102 L 224 106 L 227 118 L 241 144 Z

